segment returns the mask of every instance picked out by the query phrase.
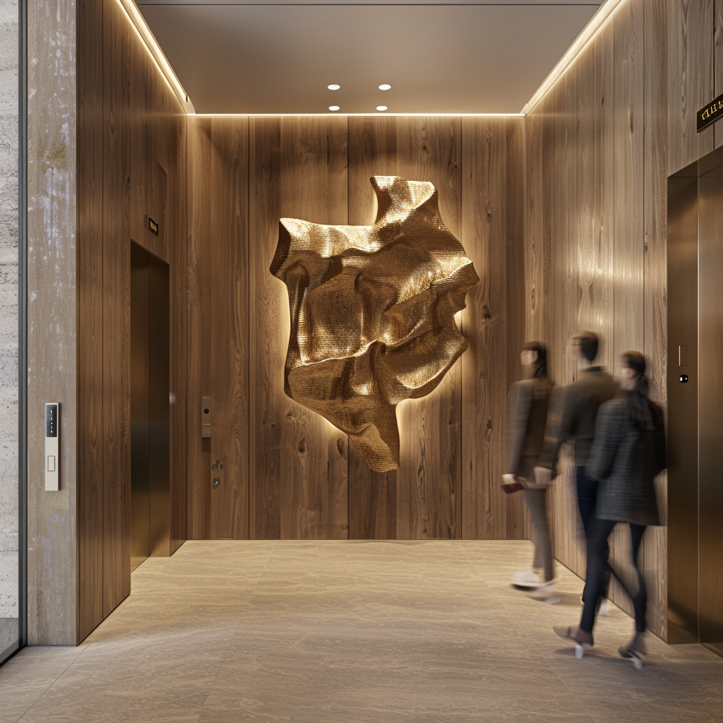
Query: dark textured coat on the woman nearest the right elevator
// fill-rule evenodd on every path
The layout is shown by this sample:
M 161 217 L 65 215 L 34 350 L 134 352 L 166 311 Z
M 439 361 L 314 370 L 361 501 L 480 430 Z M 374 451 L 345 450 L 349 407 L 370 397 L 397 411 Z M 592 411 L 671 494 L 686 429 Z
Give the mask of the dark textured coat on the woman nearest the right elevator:
M 597 479 L 595 516 L 601 520 L 659 525 L 654 478 L 667 466 L 663 411 L 649 402 L 651 429 L 640 429 L 625 399 L 600 407 L 586 474 Z

